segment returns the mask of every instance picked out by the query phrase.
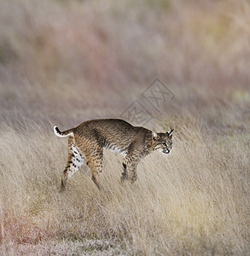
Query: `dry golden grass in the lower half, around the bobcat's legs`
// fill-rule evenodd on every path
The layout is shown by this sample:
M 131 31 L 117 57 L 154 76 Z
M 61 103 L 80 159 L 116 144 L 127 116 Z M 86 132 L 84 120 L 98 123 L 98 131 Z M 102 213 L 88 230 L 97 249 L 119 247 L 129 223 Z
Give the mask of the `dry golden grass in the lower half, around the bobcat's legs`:
M 122 157 L 105 151 L 102 193 L 84 166 L 63 194 L 67 139 L 52 130 L 2 130 L 2 248 L 96 239 L 101 246 L 84 252 L 247 255 L 249 144 L 235 135 L 232 147 L 226 137 L 197 136 L 196 129 L 188 141 L 174 136 L 170 155 L 142 160 L 133 185 L 119 183 Z

